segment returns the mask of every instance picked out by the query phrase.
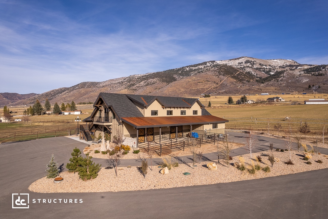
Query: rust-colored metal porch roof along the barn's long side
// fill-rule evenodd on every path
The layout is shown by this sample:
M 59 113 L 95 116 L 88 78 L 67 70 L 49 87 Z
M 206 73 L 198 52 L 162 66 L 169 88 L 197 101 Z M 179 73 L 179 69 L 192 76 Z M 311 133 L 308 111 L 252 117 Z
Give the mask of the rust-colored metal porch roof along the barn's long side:
M 203 116 L 157 116 L 157 117 L 122 117 L 123 122 L 136 129 L 163 126 L 198 125 L 229 122 L 213 115 Z

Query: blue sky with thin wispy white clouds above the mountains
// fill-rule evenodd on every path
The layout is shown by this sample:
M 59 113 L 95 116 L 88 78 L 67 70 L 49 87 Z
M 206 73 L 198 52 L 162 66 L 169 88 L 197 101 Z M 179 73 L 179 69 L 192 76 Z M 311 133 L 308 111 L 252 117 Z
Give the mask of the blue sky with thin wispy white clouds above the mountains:
M 0 92 L 241 56 L 328 64 L 328 1 L 0 0 Z

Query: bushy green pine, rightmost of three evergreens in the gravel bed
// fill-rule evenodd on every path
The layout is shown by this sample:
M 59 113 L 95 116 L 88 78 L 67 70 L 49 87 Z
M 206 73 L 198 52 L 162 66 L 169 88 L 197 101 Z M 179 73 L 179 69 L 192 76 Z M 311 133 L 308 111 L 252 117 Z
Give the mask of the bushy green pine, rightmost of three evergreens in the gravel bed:
M 85 154 L 87 158 L 82 158 L 81 167 L 78 168 L 79 176 L 82 180 L 90 180 L 94 179 L 98 176 L 98 172 L 100 170 L 101 164 L 94 164 L 91 160 L 91 156 Z

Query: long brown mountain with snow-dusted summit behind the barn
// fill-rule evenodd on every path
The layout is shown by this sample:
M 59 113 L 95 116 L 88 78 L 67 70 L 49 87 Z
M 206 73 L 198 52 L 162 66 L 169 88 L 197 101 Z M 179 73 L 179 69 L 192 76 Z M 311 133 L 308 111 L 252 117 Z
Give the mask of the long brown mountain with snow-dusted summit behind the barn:
M 42 102 L 46 98 L 52 104 L 68 103 L 72 100 L 88 102 L 94 101 L 99 92 L 186 97 L 200 96 L 202 93 L 220 95 L 327 93 L 327 76 L 327 65 L 299 64 L 293 60 L 283 59 L 261 60 L 240 57 L 224 61 L 206 61 L 104 82 L 83 82 L 19 100 L 14 104 L 32 104 L 36 99 Z

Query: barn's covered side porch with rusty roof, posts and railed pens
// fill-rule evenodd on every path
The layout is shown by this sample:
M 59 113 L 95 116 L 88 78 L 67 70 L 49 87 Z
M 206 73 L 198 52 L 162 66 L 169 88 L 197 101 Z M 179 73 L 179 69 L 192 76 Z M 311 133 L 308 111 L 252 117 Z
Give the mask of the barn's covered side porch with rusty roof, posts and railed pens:
M 215 144 L 225 138 L 224 124 L 228 122 L 212 115 L 121 119 L 129 137 L 136 139 L 137 148 L 154 150 L 159 156 L 192 146 Z

